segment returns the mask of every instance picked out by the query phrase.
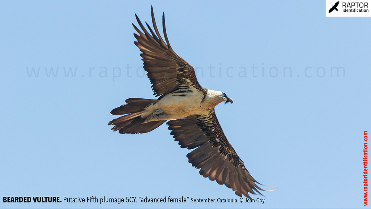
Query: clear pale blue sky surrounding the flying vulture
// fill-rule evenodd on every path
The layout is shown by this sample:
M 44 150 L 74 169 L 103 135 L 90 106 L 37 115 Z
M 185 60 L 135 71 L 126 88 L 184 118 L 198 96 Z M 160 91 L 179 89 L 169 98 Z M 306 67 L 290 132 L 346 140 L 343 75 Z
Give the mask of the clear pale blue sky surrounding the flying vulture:
M 252 195 L 264 204 L 3 203 L 3 196 L 239 201 L 199 175 L 167 125 L 137 135 L 107 125 L 125 99 L 154 98 L 131 25 L 134 13 L 150 23 L 151 5 L 159 28 L 165 12 L 171 46 L 197 67 L 200 84 L 233 98 L 216 114 L 250 174 L 279 189 Z M 325 12 L 325 1 L 2 0 L 0 207 L 362 208 L 371 19 Z M 331 76 L 333 67 L 345 74 Z

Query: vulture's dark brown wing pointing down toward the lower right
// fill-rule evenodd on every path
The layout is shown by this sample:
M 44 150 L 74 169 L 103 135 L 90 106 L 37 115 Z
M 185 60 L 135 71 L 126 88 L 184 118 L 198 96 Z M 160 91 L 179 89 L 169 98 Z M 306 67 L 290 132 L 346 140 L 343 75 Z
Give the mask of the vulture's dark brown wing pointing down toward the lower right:
M 225 184 L 236 195 L 251 199 L 248 192 L 263 190 L 250 175 L 243 161 L 229 144 L 214 109 L 207 115 L 190 115 L 187 118 L 168 121 L 168 129 L 181 148 L 194 149 L 187 154 L 188 162 L 200 169 L 200 174 Z

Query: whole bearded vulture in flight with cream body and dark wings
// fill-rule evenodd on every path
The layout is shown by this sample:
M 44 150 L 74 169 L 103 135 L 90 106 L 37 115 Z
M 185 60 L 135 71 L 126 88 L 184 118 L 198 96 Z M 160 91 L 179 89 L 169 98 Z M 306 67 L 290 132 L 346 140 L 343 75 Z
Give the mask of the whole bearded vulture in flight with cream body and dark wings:
M 171 48 L 162 13 L 164 39 L 158 32 L 151 7 L 153 29 L 146 23 L 145 29 L 137 14 L 139 30 L 134 24 L 137 41 L 142 52 L 144 69 L 151 80 L 152 90 L 158 99 L 129 98 L 111 111 L 112 115 L 124 115 L 108 123 L 120 134 L 147 133 L 167 120 L 171 135 L 181 148 L 194 149 L 187 154 L 188 162 L 200 169 L 200 174 L 250 198 L 261 193 L 255 179 L 247 171 L 243 161 L 229 144 L 220 127 L 214 107 L 220 102 L 233 103 L 226 93 L 203 88 L 198 84 L 194 68 Z M 195 149 L 196 148 L 196 149 Z M 256 193 L 255 193 L 256 192 Z M 251 198 L 250 198 L 251 199 Z

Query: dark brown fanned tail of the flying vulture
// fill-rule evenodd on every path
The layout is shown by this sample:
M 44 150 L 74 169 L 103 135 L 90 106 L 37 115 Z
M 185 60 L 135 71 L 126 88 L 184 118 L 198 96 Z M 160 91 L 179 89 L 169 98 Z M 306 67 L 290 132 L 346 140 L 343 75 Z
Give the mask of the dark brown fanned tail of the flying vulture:
M 145 118 L 141 118 L 141 115 L 145 112 L 145 107 L 156 101 L 157 100 L 155 99 L 129 98 L 125 100 L 127 104 L 121 105 L 120 107 L 111 111 L 112 115 L 127 115 L 110 121 L 108 125 L 114 125 L 111 130 L 119 130 L 120 134 L 138 134 L 150 132 L 166 122 L 166 120 L 162 120 L 144 123 Z

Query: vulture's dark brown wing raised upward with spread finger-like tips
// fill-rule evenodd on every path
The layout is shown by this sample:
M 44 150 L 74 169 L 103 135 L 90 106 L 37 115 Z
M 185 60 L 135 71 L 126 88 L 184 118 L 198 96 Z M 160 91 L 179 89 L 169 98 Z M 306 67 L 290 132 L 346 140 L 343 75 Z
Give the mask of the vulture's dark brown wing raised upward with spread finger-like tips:
M 134 33 L 135 38 L 138 40 L 134 42 L 134 44 L 143 52 L 140 56 L 143 58 L 144 70 L 148 72 L 147 76 L 150 78 L 151 84 L 153 84 L 152 90 L 154 91 L 154 95 L 158 97 L 179 88 L 187 91 L 187 89 L 191 89 L 191 87 L 196 88 L 206 95 L 205 89 L 202 88 L 197 81 L 194 68 L 184 61 L 183 58 L 178 56 L 171 48 L 166 35 L 165 14 L 162 13 L 162 29 L 164 31 L 166 43 L 162 40 L 158 32 L 152 7 L 151 14 L 155 32 L 146 22 L 151 34 L 148 33 L 137 14 L 135 14 L 135 17 L 144 33 L 134 24 L 133 26 L 139 34 L 137 35 Z

